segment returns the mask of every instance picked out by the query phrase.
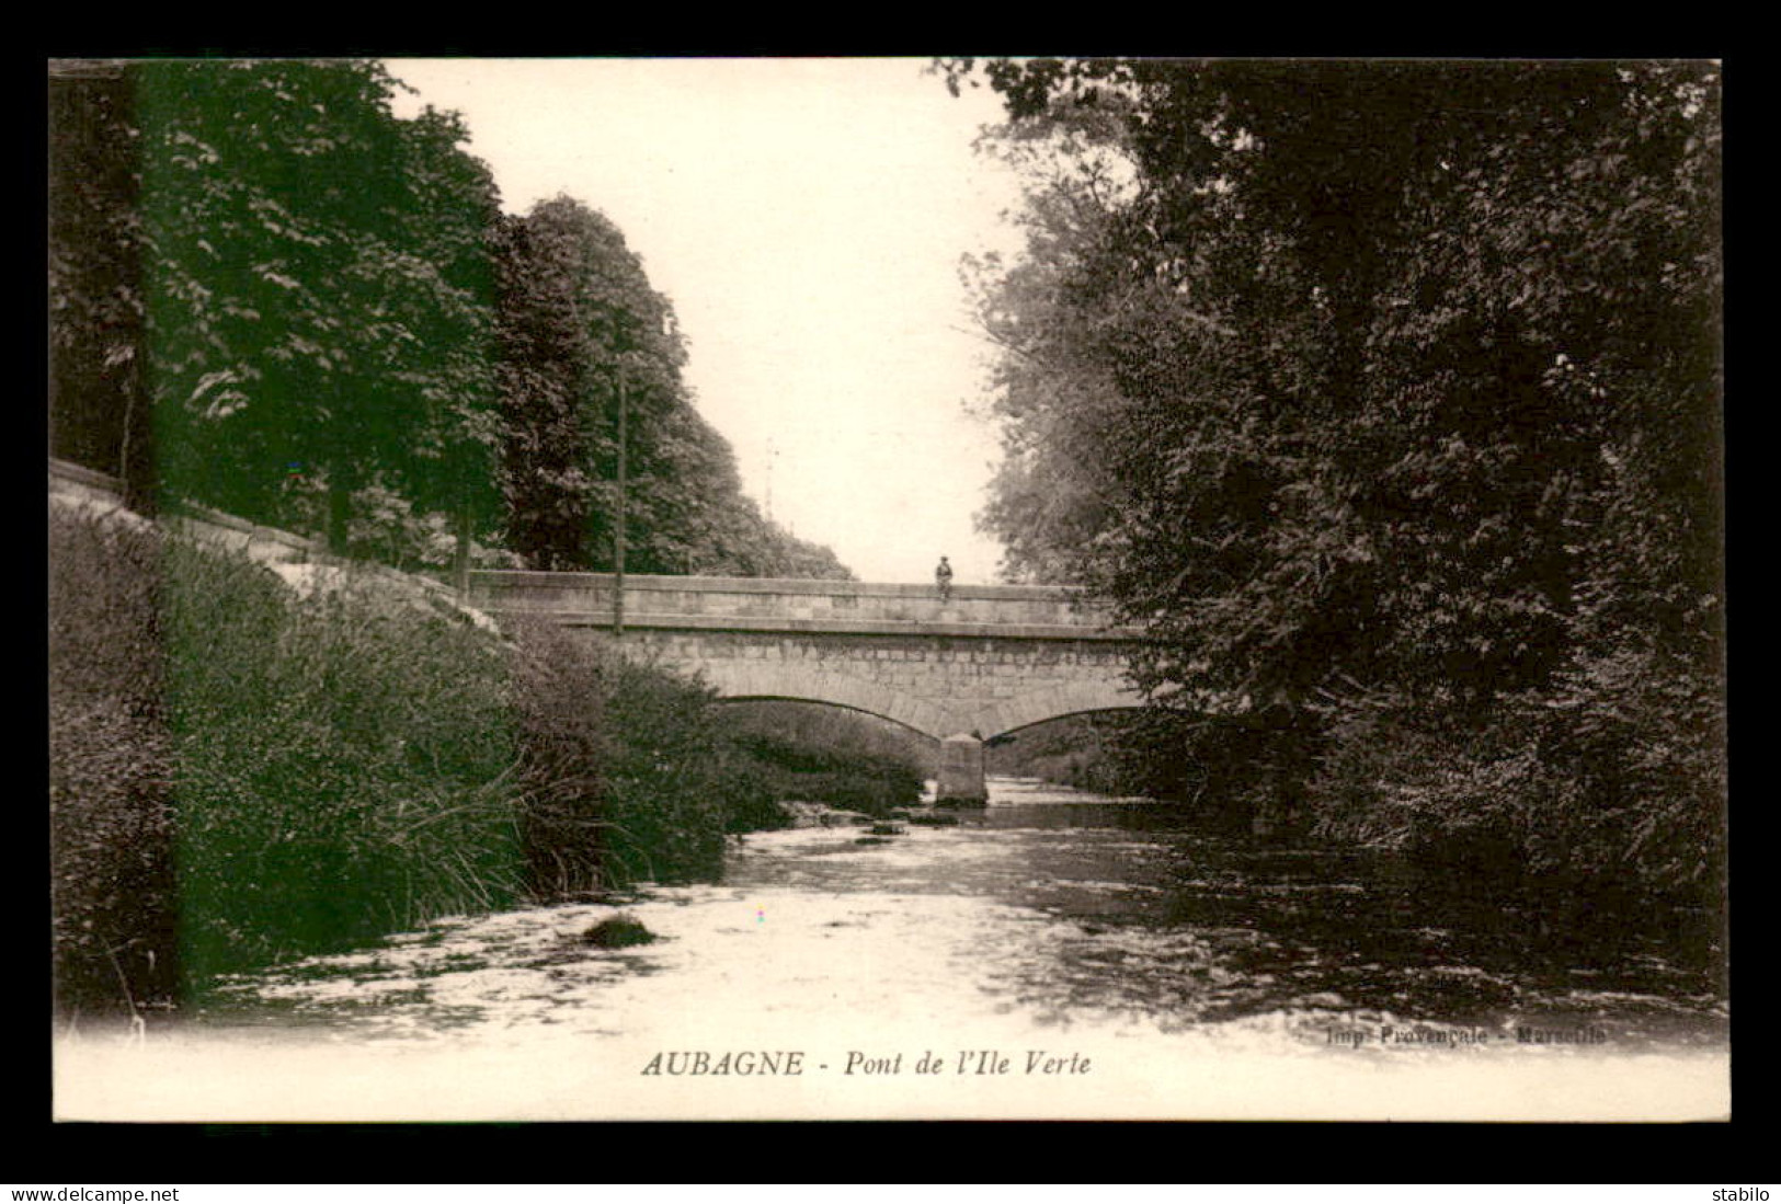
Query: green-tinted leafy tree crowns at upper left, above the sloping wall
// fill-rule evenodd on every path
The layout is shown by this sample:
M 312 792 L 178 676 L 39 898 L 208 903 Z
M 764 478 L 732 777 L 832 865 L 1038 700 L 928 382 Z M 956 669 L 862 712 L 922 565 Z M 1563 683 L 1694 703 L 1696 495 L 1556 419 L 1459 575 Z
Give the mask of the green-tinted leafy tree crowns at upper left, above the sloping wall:
M 287 522 L 324 488 L 342 549 L 379 481 L 474 506 L 495 194 L 461 125 L 397 119 L 374 62 L 128 69 L 164 488 Z

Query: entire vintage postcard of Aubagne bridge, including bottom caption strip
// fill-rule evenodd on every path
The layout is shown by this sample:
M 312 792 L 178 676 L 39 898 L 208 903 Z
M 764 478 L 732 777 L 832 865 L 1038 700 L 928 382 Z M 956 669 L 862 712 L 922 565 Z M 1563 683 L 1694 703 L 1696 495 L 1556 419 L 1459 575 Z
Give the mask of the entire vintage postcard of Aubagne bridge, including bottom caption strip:
M 48 77 L 55 1119 L 1729 1119 L 1717 64 Z

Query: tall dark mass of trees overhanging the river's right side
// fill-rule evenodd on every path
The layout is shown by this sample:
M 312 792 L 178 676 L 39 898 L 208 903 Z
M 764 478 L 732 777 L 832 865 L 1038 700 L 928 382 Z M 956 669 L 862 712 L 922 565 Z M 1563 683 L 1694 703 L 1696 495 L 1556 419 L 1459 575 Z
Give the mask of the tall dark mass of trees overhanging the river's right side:
M 978 265 L 985 522 L 1149 627 L 1165 759 L 1325 834 L 1712 894 L 1717 69 L 944 66 L 1035 185 Z

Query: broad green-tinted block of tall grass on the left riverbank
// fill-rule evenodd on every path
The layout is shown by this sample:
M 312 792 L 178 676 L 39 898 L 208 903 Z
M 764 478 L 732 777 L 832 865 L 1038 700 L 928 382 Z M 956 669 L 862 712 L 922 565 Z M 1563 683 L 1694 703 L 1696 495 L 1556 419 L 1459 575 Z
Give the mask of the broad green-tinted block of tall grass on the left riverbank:
M 187 983 L 518 898 L 493 639 L 351 577 L 164 566 Z

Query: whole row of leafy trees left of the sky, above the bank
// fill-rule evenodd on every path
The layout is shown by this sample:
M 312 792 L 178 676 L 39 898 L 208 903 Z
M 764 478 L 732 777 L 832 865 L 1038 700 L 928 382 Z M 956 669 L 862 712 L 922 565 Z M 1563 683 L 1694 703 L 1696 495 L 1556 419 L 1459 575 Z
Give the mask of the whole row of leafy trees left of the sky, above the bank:
M 826 575 L 741 493 L 623 235 L 504 217 L 456 114 L 372 61 L 52 64 L 52 449 L 132 504 L 198 500 L 443 568 L 614 559 Z

